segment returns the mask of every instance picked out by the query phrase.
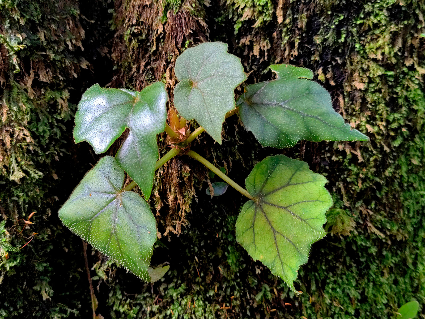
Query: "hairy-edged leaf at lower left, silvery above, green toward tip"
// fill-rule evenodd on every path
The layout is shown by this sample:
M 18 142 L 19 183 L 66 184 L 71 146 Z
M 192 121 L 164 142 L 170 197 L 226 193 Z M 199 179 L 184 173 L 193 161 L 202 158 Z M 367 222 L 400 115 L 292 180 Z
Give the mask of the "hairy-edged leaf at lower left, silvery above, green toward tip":
M 59 218 L 94 248 L 115 259 L 145 281 L 156 221 L 147 202 L 121 191 L 124 171 L 106 156 L 92 168 L 59 210 Z

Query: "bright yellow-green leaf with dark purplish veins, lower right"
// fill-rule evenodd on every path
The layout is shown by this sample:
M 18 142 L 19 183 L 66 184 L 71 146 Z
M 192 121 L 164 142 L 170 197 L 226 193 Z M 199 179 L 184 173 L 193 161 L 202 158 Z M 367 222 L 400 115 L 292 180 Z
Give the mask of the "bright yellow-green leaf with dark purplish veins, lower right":
M 326 179 L 305 162 L 276 155 L 255 165 L 245 183 L 255 200 L 241 209 L 236 240 L 295 291 L 298 268 L 326 234 L 322 225 L 332 205 Z

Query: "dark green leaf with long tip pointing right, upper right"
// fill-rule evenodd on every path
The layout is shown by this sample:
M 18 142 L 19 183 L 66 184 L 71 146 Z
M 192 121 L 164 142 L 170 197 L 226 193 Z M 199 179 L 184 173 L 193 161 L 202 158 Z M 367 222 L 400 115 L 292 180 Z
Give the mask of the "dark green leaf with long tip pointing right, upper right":
M 334 111 L 328 91 L 306 80 L 313 78 L 312 71 L 285 64 L 270 68 L 278 80 L 247 85 L 237 102 L 246 130 L 261 145 L 286 148 L 300 140 L 368 140 Z

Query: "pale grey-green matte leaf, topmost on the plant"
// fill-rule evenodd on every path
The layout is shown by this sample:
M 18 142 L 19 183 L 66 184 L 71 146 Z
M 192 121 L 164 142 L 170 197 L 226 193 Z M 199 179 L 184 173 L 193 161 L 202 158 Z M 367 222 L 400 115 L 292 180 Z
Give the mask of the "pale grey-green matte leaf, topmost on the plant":
M 186 49 L 174 72 L 180 81 L 174 88 L 178 113 L 221 144 L 224 116 L 235 108 L 234 90 L 246 80 L 241 59 L 227 53 L 227 44 L 206 42 Z

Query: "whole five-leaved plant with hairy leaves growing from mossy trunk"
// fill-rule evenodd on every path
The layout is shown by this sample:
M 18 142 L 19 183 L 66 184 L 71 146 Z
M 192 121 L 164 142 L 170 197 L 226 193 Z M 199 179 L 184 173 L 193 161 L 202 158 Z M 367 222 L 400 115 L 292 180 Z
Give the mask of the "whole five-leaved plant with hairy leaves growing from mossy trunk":
M 277 79 L 244 87 L 235 102 L 234 90 L 246 80 L 241 60 L 220 42 L 186 49 L 176 60 L 180 81 L 170 112 L 161 82 L 141 92 L 93 85 L 82 96 L 75 117 L 76 142 L 87 141 L 96 154 L 108 150 L 126 128 L 129 134 L 115 157 L 99 160 L 59 210 L 62 222 L 102 253 L 145 281 L 159 279 L 168 269 L 150 268 L 156 241 L 156 220 L 149 199 L 155 171 L 172 157 L 189 156 L 210 170 L 214 182 L 207 194 L 223 194 L 230 185 L 249 200 L 236 221 L 236 239 L 255 260 L 295 291 L 293 281 L 307 262 L 312 243 L 326 233 L 325 212 L 332 205 L 326 179 L 305 162 L 270 156 L 254 166 L 245 187 L 236 184 L 207 159 L 190 149 L 206 131 L 221 144 L 224 120 L 239 114 L 246 130 L 263 146 L 287 148 L 300 140 L 366 141 L 332 108 L 329 93 L 311 81 L 312 71 L 272 65 Z M 186 120 L 199 126 L 186 131 Z M 158 159 L 156 135 L 166 131 L 171 150 Z M 125 172 L 133 179 L 123 188 Z M 138 185 L 143 197 L 131 190 Z

